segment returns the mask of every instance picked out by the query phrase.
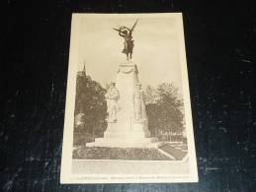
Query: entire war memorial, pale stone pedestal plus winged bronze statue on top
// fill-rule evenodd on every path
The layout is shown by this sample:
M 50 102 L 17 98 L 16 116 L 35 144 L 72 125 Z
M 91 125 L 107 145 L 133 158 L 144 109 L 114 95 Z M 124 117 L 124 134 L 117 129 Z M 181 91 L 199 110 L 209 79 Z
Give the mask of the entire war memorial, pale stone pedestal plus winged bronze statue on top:
M 108 127 L 103 138 L 96 138 L 87 147 L 151 148 L 157 138 L 150 137 L 136 64 L 130 59 L 134 40 L 131 29 L 114 29 L 125 38 L 123 53 L 127 61 L 119 65 L 116 83 L 111 83 L 106 94 Z

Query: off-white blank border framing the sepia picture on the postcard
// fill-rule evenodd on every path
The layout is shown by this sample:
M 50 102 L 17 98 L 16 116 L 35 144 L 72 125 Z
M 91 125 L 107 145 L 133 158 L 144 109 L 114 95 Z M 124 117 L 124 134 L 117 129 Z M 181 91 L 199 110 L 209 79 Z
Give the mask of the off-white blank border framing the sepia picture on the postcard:
M 64 132 L 61 157 L 60 183 L 176 183 L 176 182 L 198 182 L 198 170 L 196 151 L 194 143 L 193 122 L 191 112 L 191 100 L 189 91 L 188 71 L 186 62 L 186 51 L 181 13 L 165 14 L 123 14 L 130 18 L 177 18 L 179 22 L 180 60 L 182 65 L 182 83 L 184 93 L 185 122 L 188 141 L 189 174 L 156 174 L 156 175 L 127 175 L 127 174 L 72 174 L 72 144 L 73 144 L 73 122 L 76 91 L 76 72 L 78 63 L 78 36 L 79 25 L 84 17 L 117 17 L 118 14 L 73 14 L 71 24 L 71 39 L 69 50 L 69 66 L 66 90 L 66 106 L 64 118 Z M 114 160 L 115 161 L 115 160 Z M 146 163 L 146 160 L 143 160 Z M 161 160 L 155 160 L 161 163 Z M 176 161 L 176 160 L 175 160 Z M 178 160 L 177 160 L 178 161 Z

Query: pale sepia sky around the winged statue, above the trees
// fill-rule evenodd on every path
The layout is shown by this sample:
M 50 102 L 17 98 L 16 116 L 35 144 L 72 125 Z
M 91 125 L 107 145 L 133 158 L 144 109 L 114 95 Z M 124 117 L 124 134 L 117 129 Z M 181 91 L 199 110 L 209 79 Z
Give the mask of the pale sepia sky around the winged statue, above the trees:
M 87 75 L 102 86 L 115 82 L 119 64 L 126 63 L 127 56 L 121 52 L 124 38 L 112 28 L 131 28 L 135 21 L 126 15 L 83 17 L 79 25 L 78 70 L 85 64 Z M 181 90 L 178 22 L 177 18 L 138 17 L 132 32 L 131 61 L 137 65 L 143 89 L 173 83 Z

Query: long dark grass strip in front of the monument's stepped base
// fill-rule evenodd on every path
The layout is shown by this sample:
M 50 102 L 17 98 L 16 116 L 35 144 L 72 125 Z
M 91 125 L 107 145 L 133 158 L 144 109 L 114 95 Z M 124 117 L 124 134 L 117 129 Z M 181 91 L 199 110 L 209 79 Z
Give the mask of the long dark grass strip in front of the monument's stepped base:
M 171 160 L 157 149 L 81 147 L 73 150 L 78 160 Z

